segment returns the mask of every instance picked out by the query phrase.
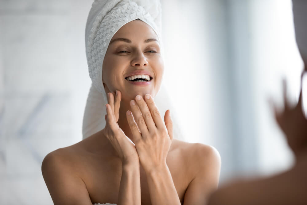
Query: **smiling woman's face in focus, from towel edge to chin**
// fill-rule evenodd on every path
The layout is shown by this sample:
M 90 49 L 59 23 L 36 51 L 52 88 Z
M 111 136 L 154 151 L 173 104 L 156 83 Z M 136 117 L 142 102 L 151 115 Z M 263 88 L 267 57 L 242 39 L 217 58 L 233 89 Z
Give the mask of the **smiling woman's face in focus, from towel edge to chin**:
M 102 76 L 106 93 L 119 90 L 122 100 L 127 101 L 136 95 L 144 97 L 147 93 L 156 96 L 164 72 L 157 40 L 153 29 L 141 20 L 131 21 L 115 33 L 103 60 Z M 131 76 L 147 79 L 141 82 Z

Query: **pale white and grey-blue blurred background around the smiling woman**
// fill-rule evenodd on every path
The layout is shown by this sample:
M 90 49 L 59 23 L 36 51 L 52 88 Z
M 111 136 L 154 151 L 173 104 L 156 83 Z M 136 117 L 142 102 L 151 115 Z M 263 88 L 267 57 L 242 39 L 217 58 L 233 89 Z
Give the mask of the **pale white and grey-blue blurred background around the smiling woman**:
M 41 162 L 82 140 L 92 2 L 0 0 L 0 204 L 52 204 Z M 220 152 L 220 184 L 289 168 L 267 98 L 282 106 L 286 78 L 298 99 L 291 0 L 162 0 L 162 10 L 170 110 L 186 141 Z

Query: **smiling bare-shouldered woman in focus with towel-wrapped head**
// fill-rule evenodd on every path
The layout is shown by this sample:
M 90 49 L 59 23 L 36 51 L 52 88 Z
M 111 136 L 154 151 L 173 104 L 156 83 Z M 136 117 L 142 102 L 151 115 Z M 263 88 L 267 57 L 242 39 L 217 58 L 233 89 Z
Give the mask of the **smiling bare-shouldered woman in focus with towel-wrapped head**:
M 157 27 L 142 2 L 104 3 L 92 5 L 87 60 L 93 85 L 107 93 L 106 125 L 45 157 L 42 173 L 52 200 L 204 204 L 217 188 L 220 156 L 210 146 L 173 139 L 169 110 L 163 122 L 153 100 L 164 71 Z

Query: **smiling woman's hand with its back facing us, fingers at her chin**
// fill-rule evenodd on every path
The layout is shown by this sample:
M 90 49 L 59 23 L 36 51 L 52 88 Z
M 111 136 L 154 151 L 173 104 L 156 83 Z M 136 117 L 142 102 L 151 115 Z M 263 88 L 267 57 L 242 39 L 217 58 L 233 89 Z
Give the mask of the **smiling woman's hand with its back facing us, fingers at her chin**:
M 127 115 L 127 120 L 142 167 L 146 173 L 164 168 L 173 140 L 170 111 L 166 110 L 164 123 L 149 94 L 145 95 L 145 101 L 141 96 L 136 96 L 135 101 L 130 101 L 130 106 L 132 115 Z

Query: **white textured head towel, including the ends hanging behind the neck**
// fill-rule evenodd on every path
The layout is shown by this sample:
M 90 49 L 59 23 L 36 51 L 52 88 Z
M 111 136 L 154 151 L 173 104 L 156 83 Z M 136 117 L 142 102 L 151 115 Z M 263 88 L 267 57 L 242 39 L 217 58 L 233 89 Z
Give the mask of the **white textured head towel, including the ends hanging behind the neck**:
M 83 139 L 105 127 L 104 115 L 106 114 L 107 95 L 102 82 L 103 59 L 113 35 L 123 25 L 135 19 L 142 20 L 154 30 L 158 36 L 163 56 L 159 0 L 95 0 L 92 4 L 85 29 L 87 64 L 92 85 L 84 111 Z M 171 107 L 163 87 L 162 83 L 157 94 L 159 97 L 155 97 L 155 102 L 160 110 Z M 183 139 L 176 122 L 176 112 L 172 112 L 171 115 L 174 137 Z

